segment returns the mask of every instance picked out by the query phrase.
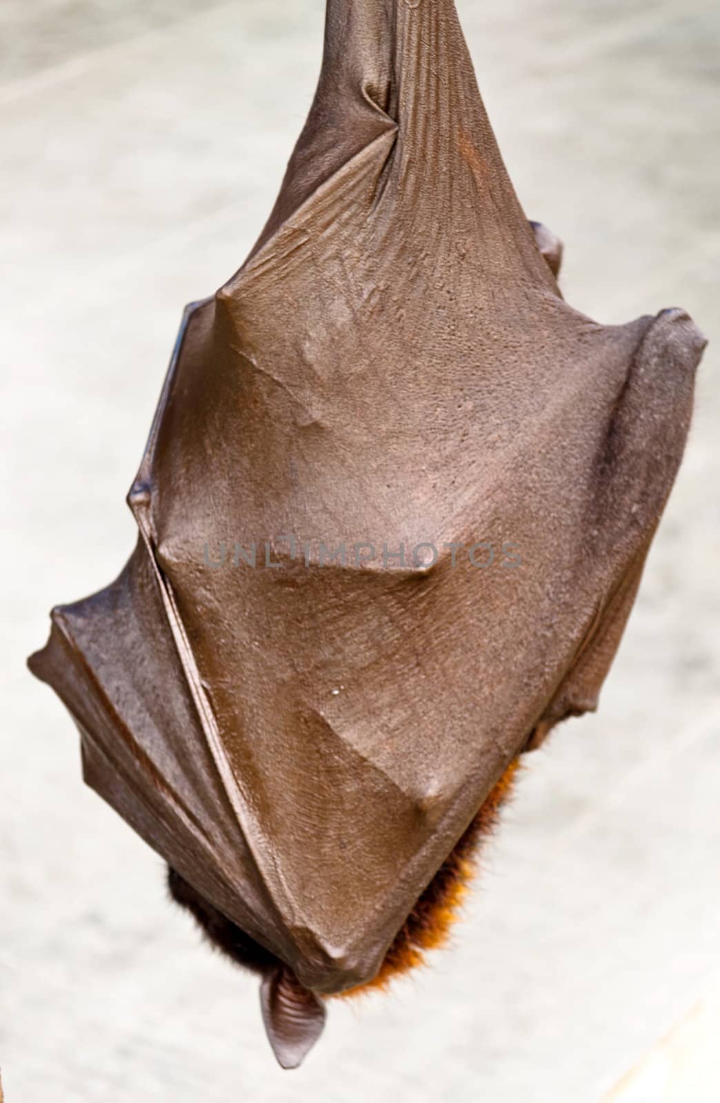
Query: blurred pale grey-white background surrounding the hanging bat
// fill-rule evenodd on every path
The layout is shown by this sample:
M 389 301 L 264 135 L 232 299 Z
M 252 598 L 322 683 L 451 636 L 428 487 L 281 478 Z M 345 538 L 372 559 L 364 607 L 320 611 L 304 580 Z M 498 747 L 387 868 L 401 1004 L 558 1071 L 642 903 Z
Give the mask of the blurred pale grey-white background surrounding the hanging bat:
M 602 322 L 682 306 L 711 344 L 599 715 L 531 758 L 455 949 L 387 998 L 333 1005 L 287 1074 L 255 981 L 166 902 L 160 860 L 82 786 L 72 721 L 23 663 L 51 606 L 131 549 L 124 495 L 181 309 L 265 221 L 324 3 L 0 4 L 7 1103 L 720 1097 L 714 1050 L 692 1092 L 697 1038 L 658 1050 L 698 1007 L 708 1039 L 720 1027 L 720 10 L 457 7 L 528 216 L 567 243 L 572 304 Z M 638 1089 L 658 1052 L 675 1089 Z

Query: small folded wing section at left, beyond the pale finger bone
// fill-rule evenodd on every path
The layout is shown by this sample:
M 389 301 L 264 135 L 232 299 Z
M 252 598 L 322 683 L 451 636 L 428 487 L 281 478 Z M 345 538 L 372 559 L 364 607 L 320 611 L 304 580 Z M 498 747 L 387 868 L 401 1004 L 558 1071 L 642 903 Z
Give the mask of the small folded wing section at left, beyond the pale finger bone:
M 204 739 L 142 542 L 112 586 L 53 610 L 52 620 L 30 667 L 77 724 L 85 781 L 252 933 L 263 907 L 252 888 L 252 853 Z M 240 884 L 241 897 L 227 888 Z

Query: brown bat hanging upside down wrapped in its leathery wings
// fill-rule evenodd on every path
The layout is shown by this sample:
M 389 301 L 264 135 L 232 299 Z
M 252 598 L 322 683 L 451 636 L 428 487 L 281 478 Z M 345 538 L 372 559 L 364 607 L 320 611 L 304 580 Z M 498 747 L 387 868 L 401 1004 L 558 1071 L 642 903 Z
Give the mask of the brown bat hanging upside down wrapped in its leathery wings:
M 186 310 L 136 550 L 31 660 L 286 1068 L 442 942 L 519 757 L 595 708 L 680 463 L 701 334 L 578 313 L 560 251 L 452 0 L 329 0 L 269 221 Z

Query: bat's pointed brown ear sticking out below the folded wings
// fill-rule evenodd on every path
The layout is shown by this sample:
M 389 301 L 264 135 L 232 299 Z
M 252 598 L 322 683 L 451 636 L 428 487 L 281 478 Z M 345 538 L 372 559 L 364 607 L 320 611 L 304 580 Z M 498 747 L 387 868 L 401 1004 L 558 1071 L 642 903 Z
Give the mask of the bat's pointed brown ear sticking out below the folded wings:
M 325 1029 L 325 1004 L 304 988 L 295 973 L 278 965 L 261 988 L 263 1021 L 284 1069 L 298 1069 Z

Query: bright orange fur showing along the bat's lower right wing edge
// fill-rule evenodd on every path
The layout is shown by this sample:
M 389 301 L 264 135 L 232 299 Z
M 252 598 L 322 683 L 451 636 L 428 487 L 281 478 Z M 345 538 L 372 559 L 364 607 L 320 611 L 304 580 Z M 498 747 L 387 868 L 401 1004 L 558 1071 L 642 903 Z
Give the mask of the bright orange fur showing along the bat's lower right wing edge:
M 341 998 L 352 998 L 378 988 L 384 990 L 396 976 L 423 965 L 428 950 L 438 950 L 447 943 L 475 875 L 480 845 L 498 823 L 500 807 L 512 790 L 519 764 L 519 759 L 510 763 L 452 854 L 440 867 L 395 935 L 375 978 L 369 984 L 340 993 Z

